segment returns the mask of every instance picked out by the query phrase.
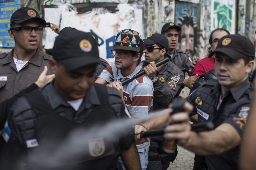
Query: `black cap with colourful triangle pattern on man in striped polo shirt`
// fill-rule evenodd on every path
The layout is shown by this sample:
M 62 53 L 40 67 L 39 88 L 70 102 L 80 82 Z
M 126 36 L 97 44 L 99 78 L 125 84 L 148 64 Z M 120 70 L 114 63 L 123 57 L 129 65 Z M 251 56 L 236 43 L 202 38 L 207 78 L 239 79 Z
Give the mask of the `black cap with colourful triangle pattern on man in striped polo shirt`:
M 117 33 L 113 49 L 139 52 L 142 42 L 140 33 L 132 29 L 125 29 Z

